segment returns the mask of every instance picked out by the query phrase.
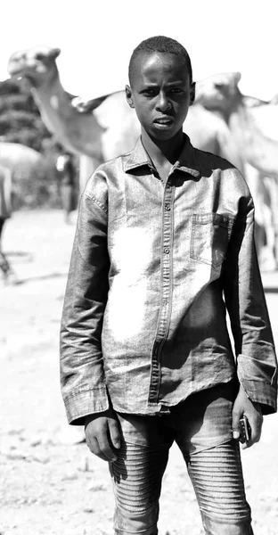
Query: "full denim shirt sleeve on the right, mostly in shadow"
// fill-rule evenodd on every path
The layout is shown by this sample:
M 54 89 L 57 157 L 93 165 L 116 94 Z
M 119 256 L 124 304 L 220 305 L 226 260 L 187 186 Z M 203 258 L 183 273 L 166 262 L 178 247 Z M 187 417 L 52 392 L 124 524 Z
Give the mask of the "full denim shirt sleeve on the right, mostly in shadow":
M 242 197 L 223 269 L 237 374 L 263 414 L 277 410 L 277 358 L 254 242 L 254 206 Z

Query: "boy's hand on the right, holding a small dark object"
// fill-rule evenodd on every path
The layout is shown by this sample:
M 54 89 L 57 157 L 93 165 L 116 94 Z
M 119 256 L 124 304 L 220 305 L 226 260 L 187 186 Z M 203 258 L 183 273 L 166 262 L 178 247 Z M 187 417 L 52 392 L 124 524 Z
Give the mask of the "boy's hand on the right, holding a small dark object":
M 233 438 L 240 438 L 240 419 L 246 416 L 251 428 L 251 437 L 248 442 L 242 444 L 242 449 L 250 448 L 255 442 L 258 442 L 262 432 L 263 415 L 259 403 L 251 401 L 242 386 L 233 404 Z

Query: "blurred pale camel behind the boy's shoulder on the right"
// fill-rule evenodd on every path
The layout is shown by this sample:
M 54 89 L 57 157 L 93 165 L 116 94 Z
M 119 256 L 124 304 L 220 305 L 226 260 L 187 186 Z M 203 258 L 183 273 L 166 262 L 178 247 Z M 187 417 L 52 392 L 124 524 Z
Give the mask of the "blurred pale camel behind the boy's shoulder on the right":
M 237 167 L 249 183 L 258 226 L 265 228 L 266 268 L 272 269 L 278 260 L 278 106 L 274 99 L 267 103 L 242 95 L 240 79 L 240 73 L 207 78 L 199 84 L 196 99 L 224 119 L 231 132 Z

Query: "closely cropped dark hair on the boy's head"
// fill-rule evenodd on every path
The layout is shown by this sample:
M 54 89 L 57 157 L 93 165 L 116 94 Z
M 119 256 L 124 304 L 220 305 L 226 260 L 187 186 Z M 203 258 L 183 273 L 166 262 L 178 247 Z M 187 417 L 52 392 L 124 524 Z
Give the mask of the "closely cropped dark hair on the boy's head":
M 184 58 L 186 69 L 188 70 L 190 83 L 192 84 L 192 63 L 189 53 L 187 50 L 185 50 L 184 46 L 178 43 L 176 39 L 172 39 L 171 37 L 155 36 L 144 39 L 144 41 L 136 46 L 135 50 L 133 51 L 128 66 L 128 78 L 130 85 L 133 75 L 135 74 L 135 59 L 140 54 L 148 54 L 153 52 L 176 53 L 176 55 L 182 56 Z

